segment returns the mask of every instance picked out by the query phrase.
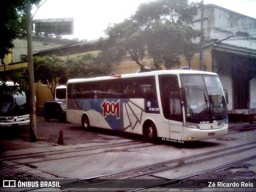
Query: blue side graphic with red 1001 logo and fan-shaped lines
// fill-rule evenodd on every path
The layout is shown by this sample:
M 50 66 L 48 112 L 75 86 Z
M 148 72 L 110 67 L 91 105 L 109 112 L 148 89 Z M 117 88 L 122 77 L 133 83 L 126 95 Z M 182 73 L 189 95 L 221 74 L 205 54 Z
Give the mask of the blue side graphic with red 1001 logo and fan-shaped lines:
M 77 98 L 76 105 L 83 111 L 94 110 L 98 112 L 114 130 L 124 131 L 128 128 L 134 130 L 137 124 L 141 123 L 143 113 L 159 114 L 158 101 L 147 98 L 142 102 L 144 106 L 132 102 L 128 98 Z M 136 111 L 136 112 L 135 112 Z M 128 122 L 124 125 L 124 114 Z

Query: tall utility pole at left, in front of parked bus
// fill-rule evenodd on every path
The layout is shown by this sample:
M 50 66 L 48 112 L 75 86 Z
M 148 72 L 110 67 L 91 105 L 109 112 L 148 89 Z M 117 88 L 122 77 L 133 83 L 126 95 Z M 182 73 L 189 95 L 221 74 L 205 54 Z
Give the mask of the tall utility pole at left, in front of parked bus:
M 28 41 L 28 88 L 29 88 L 29 114 L 30 114 L 30 141 L 37 141 L 36 128 L 36 98 L 34 83 L 33 49 L 32 49 L 32 19 L 31 0 L 27 0 L 27 41 Z

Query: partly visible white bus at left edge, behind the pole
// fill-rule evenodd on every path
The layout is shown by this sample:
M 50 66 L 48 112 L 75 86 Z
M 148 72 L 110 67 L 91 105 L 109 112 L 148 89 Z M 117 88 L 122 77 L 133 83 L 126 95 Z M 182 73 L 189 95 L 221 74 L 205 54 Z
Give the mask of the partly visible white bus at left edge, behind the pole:
M 2 84 L 2 83 L 1 83 Z M 29 125 L 29 107 L 24 91 L 12 93 L 14 82 L 0 86 L 0 126 Z

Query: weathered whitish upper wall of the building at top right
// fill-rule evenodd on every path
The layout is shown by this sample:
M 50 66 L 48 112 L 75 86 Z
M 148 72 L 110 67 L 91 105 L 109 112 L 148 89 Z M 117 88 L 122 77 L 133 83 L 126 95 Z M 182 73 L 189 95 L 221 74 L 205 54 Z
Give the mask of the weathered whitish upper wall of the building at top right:
M 200 29 L 201 11 L 194 17 L 194 28 Z M 218 38 L 225 44 L 256 50 L 256 19 L 231 10 L 207 4 L 204 10 L 205 41 Z M 250 40 L 248 40 L 250 39 Z

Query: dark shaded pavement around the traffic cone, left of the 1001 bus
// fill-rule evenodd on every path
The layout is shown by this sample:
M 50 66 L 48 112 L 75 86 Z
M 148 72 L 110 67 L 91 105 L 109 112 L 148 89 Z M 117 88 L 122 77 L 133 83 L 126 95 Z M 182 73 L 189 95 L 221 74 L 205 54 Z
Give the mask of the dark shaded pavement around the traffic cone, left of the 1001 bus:
M 114 132 L 93 128 L 93 130 L 83 130 L 81 125 L 63 123 L 58 120 L 46 122 L 42 116 L 37 117 L 38 142 L 30 142 L 29 126 L 1 128 L 0 152 L 7 150 L 18 150 L 25 148 L 53 146 L 57 144 L 60 136 L 60 130 L 63 131 L 63 141 L 66 145 L 85 144 L 90 142 L 108 142 L 108 140 L 122 140 L 130 138 L 142 140 L 141 136 L 123 132 Z M 15 142 L 14 142 L 15 141 Z

